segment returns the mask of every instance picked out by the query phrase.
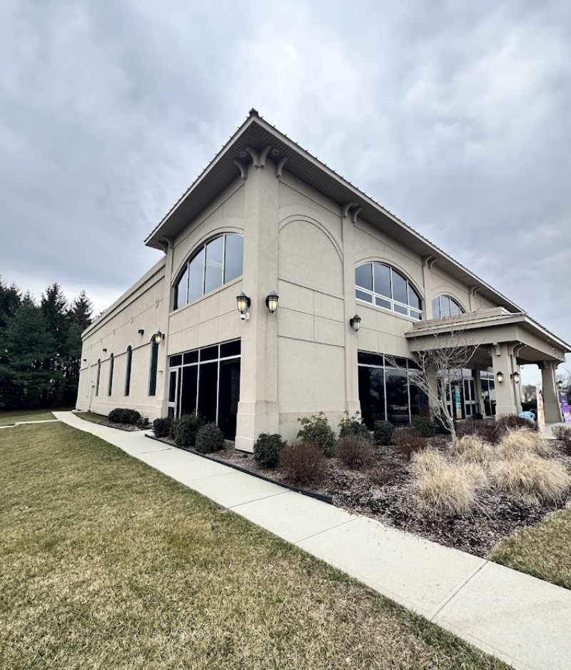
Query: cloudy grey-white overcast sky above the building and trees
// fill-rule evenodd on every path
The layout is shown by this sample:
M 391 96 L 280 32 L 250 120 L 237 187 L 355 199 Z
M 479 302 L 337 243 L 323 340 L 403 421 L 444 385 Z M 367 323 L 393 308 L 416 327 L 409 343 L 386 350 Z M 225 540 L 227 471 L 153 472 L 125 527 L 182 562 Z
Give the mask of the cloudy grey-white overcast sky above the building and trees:
M 2 0 L 0 274 L 108 306 L 254 106 L 570 341 L 570 36 L 562 0 Z

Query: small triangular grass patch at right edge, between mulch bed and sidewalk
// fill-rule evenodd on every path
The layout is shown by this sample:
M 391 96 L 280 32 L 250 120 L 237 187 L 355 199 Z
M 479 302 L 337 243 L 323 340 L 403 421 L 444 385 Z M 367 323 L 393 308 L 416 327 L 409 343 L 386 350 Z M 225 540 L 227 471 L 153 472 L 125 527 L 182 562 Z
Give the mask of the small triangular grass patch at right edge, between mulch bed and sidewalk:
M 491 559 L 571 589 L 571 504 L 497 544 Z

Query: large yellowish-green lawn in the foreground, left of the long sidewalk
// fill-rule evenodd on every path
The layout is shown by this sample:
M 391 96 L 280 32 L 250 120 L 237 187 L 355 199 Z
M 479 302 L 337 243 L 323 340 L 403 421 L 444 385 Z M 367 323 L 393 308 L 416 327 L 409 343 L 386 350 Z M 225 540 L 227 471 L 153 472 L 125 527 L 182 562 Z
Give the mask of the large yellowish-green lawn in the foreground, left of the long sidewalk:
M 66 424 L 0 453 L 3 670 L 507 668 Z

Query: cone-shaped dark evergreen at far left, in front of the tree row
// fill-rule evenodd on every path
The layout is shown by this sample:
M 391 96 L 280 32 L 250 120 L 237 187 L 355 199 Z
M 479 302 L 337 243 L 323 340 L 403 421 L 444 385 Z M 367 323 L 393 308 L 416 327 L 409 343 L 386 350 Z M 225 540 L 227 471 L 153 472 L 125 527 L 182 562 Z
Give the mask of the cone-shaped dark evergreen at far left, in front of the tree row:
M 26 294 L 4 332 L 7 365 L 1 366 L 0 376 L 9 391 L 5 406 L 50 404 L 54 348 L 43 311 Z

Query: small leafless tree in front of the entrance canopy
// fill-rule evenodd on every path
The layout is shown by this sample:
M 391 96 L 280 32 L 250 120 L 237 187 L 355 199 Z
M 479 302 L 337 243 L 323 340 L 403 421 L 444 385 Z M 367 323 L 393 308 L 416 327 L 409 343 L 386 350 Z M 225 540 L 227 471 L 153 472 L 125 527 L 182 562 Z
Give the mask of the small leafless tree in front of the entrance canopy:
M 466 328 L 462 316 L 448 319 L 447 328 L 443 322 L 424 322 L 429 329 L 430 344 L 426 344 L 427 334 L 423 333 L 423 349 L 413 351 L 413 360 L 418 370 L 409 370 L 409 383 L 415 384 L 428 396 L 430 413 L 435 421 L 450 431 L 451 451 L 458 454 L 458 436 L 455 428 L 454 399 L 448 405 L 447 388 L 463 384 L 462 370 L 469 366 L 478 348 L 474 337 Z M 413 340 L 416 341 L 416 340 Z M 395 359 L 385 356 L 391 366 L 403 369 Z

